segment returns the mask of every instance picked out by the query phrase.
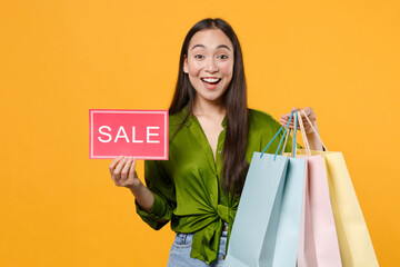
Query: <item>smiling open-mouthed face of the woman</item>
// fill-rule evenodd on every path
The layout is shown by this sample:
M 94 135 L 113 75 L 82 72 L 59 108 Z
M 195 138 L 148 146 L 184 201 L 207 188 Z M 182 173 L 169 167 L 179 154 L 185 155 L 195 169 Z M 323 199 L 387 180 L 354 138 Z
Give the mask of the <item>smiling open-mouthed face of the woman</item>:
M 194 33 L 189 42 L 183 71 L 197 91 L 198 100 L 219 102 L 233 75 L 233 46 L 220 29 Z

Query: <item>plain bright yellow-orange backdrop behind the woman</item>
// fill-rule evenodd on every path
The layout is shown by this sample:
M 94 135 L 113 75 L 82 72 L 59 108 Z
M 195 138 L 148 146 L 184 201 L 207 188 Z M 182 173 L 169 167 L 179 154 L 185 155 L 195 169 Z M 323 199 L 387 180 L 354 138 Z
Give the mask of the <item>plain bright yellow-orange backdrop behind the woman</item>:
M 0 266 L 166 266 L 173 234 L 89 159 L 88 110 L 167 109 L 206 17 L 237 31 L 251 108 L 314 108 L 381 266 L 398 266 L 399 13 L 396 0 L 1 0 Z

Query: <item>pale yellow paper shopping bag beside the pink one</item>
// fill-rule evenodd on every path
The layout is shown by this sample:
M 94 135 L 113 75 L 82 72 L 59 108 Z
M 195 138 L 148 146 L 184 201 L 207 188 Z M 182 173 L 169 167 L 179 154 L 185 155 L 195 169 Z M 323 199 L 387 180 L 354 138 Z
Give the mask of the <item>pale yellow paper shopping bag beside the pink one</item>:
M 318 134 L 317 137 L 323 145 Z M 298 155 L 306 154 L 303 149 L 298 150 Z M 379 266 L 343 155 L 328 149 L 311 151 L 311 155 L 322 157 L 324 164 L 342 266 Z

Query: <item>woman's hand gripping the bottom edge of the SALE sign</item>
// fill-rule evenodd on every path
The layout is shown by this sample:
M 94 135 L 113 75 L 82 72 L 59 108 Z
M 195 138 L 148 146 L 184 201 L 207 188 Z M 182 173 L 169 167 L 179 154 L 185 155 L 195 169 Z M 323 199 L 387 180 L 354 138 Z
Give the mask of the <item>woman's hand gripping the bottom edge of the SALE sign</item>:
M 143 184 L 134 170 L 136 160 L 133 157 L 117 157 L 109 166 L 111 178 L 116 186 L 127 187 L 137 191 Z

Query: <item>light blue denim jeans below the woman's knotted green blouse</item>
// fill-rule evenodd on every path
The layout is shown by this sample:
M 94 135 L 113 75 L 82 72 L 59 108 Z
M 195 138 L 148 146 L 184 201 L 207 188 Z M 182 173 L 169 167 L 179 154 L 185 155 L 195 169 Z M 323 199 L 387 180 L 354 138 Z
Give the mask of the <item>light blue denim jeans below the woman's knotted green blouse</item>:
M 220 238 L 218 259 L 208 265 L 200 259 L 190 257 L 193 234 L 178 233 L 170 250 L 167 267 L 222 267 L 227 249 L 227 237 L 228 231 L 223 230 Z

